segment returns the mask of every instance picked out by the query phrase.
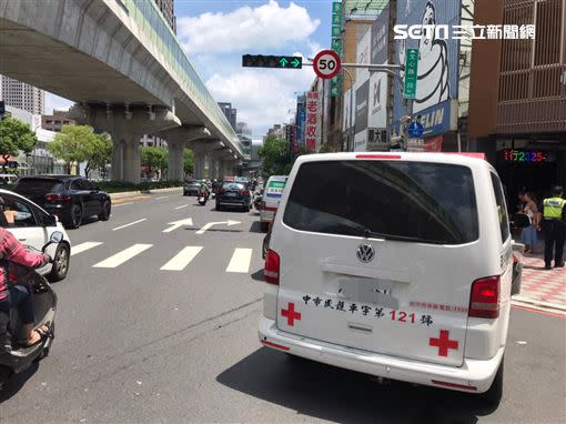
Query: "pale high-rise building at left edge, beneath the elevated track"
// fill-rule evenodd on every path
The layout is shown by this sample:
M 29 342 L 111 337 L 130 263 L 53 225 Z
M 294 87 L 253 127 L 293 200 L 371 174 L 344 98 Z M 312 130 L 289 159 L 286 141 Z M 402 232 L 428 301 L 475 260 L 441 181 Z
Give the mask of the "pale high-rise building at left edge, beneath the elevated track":
M 46 113 L 46 92 L 43 90 L 6 75 L 0 75 L 0 100 L 3 100 L 6 105 L 33 114 Z

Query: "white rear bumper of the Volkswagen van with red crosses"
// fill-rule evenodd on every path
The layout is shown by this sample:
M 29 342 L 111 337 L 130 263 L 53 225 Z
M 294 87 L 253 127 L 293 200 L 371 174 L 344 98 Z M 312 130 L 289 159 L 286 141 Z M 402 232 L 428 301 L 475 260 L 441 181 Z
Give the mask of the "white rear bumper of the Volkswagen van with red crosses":
M 273 320 L 262 317 L 260 342 L 271 349 L 342 369 L 384 378 L 449 388 L 467 393 L 486 392 L 497 373 L 505 347 L 487 361 L 464 359 L 461 367 L 403 360 L 340 346 L 277 330 Z

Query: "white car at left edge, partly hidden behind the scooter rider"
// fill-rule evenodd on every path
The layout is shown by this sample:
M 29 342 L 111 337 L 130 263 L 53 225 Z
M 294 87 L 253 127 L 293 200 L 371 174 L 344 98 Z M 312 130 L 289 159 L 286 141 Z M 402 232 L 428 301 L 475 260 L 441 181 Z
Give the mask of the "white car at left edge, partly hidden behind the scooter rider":
M 0 189 L 0 205 L 3 211 L 11 211 L 13 214 L 13 224 L 9 224 L 4 212 L 0 211 L 0 225 L 24 245 L 41 250 L 54 231 L 63 233 L 61 243 L 52 244 L 46 251 L 53 259 L 53 263 L 38 270 L 50 281 L 63 280 L 69 271 L 71 241 L 57 216 L 50 215 L 31 200 L 2 189 Z

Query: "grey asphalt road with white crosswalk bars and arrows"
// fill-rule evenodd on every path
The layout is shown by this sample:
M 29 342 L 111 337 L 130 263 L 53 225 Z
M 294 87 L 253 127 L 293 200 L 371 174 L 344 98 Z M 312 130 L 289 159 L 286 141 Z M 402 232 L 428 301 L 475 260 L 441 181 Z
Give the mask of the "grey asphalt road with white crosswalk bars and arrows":
M 228 220 L 240 223 L 196 234 Z M 263 234 L 253 212 L 154 194 L 69 234 L 75 253 L 54 284 L 51 354 L 0 393 L 1 423 L 566 422 L 563 317 L 513 310 L 504 400 L 485 408 L 471 395 L 380 384 L 261 347 Z

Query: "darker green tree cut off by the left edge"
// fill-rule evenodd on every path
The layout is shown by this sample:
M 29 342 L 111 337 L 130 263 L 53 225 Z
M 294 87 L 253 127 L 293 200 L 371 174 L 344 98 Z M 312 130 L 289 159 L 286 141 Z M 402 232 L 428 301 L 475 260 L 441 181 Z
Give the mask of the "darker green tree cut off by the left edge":
M 0 155 L 3 158 L 3 172 L 10 157 L 17 157 L 21 151 L 30 154 L 37 143 L 36 134 L 30 125 L 13 118 L 0 120 Z

